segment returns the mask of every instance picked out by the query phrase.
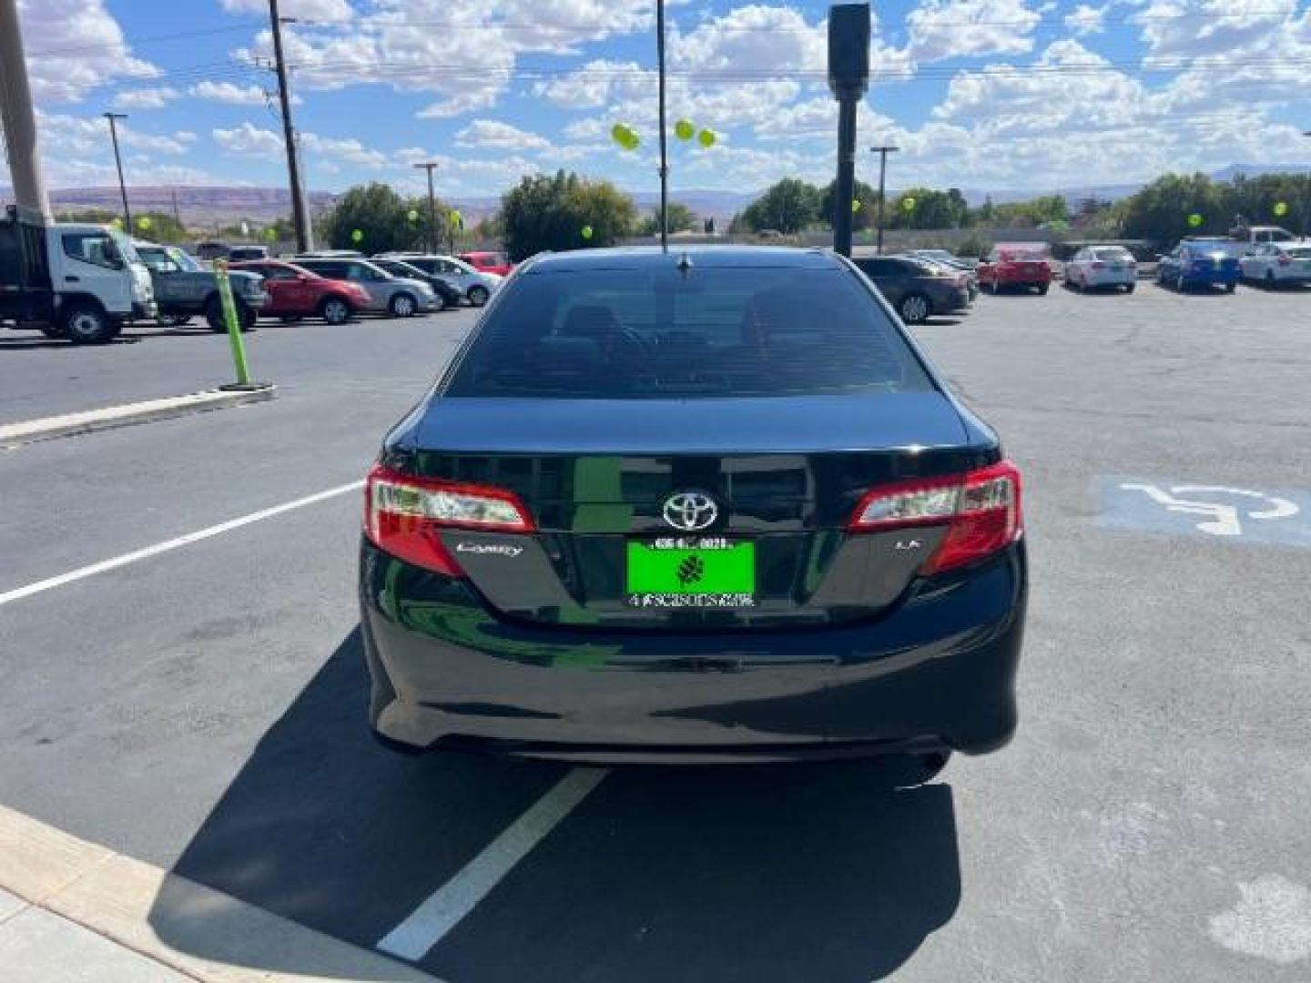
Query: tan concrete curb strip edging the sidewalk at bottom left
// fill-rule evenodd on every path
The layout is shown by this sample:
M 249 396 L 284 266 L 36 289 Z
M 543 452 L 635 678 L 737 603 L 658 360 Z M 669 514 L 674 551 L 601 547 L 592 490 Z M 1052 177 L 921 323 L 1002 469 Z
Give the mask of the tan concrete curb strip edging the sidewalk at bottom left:
M 203 983 L 440 983 L 5 806 L 0 890 Z

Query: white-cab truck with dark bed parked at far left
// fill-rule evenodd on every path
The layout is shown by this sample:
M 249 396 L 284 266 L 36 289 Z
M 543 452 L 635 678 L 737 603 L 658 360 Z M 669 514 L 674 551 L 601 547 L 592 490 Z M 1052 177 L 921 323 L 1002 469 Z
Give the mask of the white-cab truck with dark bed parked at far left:
M 156 315 L 149 270 L 118 229 L 0 219 L 0 325 L 101 345 Z

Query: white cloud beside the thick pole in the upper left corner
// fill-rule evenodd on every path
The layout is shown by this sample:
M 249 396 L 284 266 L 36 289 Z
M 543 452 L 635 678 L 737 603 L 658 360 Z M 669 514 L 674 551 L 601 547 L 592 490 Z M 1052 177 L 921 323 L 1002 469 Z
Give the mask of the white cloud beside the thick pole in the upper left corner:
M 131 54 L 104 0 L 18 0 L 18 18 L 38 104 L 77 102 L 106 83 L 160 73 Z

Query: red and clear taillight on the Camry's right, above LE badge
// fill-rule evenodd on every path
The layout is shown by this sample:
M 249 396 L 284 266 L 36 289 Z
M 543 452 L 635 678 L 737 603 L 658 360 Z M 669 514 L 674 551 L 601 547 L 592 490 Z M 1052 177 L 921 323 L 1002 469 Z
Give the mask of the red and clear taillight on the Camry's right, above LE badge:
M 851 532 L 945 526 L 920 573 L 952 570 L 996 553 L 1024 533 L 1020 469 L 1000 461 L 965 476 L 924 478 L 872 489 L 848 523 Z

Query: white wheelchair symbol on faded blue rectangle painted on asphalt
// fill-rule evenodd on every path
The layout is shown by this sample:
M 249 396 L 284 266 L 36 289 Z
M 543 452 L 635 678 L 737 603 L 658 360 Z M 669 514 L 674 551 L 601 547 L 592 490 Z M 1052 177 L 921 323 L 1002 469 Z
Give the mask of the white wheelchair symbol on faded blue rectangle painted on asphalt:
M 1110 477 L 1101 526 L 1311 548 L 1311 493 Z

